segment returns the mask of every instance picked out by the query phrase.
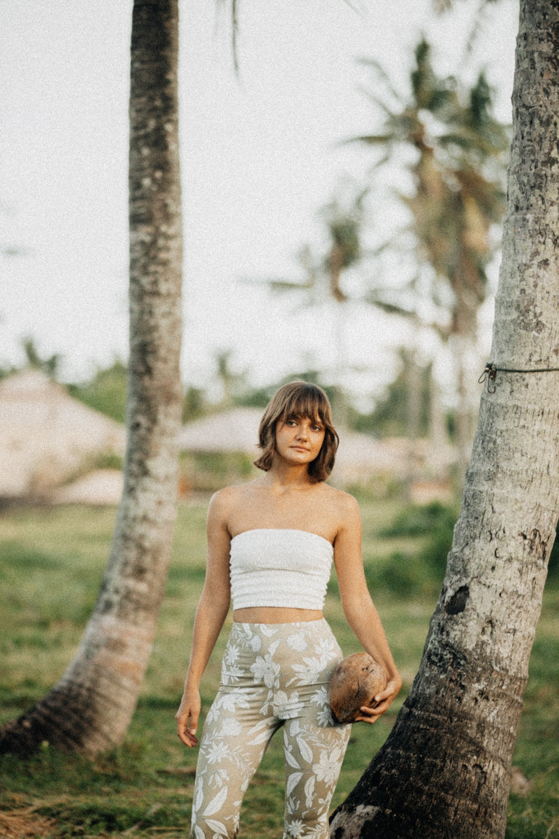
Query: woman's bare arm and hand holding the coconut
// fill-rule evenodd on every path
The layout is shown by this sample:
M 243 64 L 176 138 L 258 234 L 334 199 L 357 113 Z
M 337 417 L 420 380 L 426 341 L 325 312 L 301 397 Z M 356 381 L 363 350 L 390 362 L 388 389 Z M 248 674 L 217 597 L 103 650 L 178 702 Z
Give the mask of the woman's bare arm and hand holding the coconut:
M 385 690 L 375 696 L 375 706 L 361 708 L 356 722 L 376 722 L 391 706 L 401 689 L 401 677 L 392 658 L 386 633 L 376 611 L 363 568 L 361 516 L 355 498 L 344 494 L 342 516 L 334 539 L 334 564 L 344 615 L 363 649 L 382 664 L 388 676 Z

